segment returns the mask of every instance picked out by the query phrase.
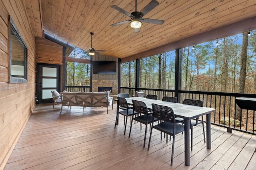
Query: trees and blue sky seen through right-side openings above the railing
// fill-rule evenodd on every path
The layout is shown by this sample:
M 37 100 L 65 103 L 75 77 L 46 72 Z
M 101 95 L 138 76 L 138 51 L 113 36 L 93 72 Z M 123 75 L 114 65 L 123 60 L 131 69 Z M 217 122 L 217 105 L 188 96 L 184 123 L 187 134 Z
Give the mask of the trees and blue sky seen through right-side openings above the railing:
M 245 93 L 256 93 L 256 31 L 248 37 Z M 242 34 L 181 49 L 181 90 L 238 92 Z M 130 63 L 130 64 L 129 64 Z M 122 64 L 121 86 L 134 87 L 135 62 Z M 160 75 L 158 73 L 161 73 Z M 140 87 L 174 89 L 175 51 L 140 60 Z M 161 80 L 161 81 L 159 81 Z

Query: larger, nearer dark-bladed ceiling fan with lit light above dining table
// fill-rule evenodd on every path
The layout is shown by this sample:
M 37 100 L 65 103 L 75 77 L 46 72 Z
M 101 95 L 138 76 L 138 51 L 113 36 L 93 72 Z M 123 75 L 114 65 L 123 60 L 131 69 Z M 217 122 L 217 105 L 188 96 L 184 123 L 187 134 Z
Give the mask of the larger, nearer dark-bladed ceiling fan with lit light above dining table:
M 164 23 L 164 20 L 142 18 L 144 15 L 148 14 L 148 12 L 153 10 L 158 5 L 159 5 L 159 3 L 156 0 L 151 0 L 148 3 L 148 5 L 146 5 L 140 12 L 138 12 L 137 11 L 137 0 L 135 0 L 135 11 L 132 12 L 131 14 L 129 12 L 126 12 L 125 10 L 123 10 L 122 8 L 120 8 L 118 6 L 113 5 L 113 6 L 111 6 L 111 8 L 114 8 L 118 12 L 121 12 L 124 15 L 129 16 L 131 19 L 130 20 L 126 20 L 126 21 L 122 21 L 122 22 L 118 22 L 118 23 L 114 23 L 114 24 L 111 24 L 110 26 L 116 26 L 116 25 L 121 25 L 123 23 L 130 22 L 130 26 L 132 28 L 134 28 L 134 32 L 138 33 L 138 32 L 140 32 L 140 27 L 142 25 L 142 22 L 162 25 Z

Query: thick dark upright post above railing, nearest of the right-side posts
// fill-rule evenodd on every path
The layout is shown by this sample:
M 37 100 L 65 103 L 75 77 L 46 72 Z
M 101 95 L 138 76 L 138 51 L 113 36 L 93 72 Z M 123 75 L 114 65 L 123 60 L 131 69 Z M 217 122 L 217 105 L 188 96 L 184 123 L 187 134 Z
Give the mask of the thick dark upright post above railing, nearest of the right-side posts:
M 174 85 L 174 96 L 178 98 L 178 103 L 180 103 L 180 93 L 181 88 L 181 49 L 175 50 L 175 85 Z

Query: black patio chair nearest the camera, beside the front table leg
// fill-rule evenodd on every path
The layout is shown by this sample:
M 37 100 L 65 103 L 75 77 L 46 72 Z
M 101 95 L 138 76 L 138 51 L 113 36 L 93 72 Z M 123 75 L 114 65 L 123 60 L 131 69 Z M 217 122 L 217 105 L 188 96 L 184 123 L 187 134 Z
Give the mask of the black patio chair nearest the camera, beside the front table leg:
M 162 122 L 157 125 L 154 125 L 154 122 L 152 122 L 150 137 L 148 141 L 148 150 L 150 148 L 150 141 L 151 141 L 153 129 L 157 129 L 158 131 L 171 135 L 173 137 L 172 138 L 172 158 L 171 158 L 171 166 L 172 166 L 175 135 L 184 131 L 184 125 L 175 122 L 174 111 L 172 110 L 171 107 L 152 104 L 152 108 L 153 108 L 153 118 L 159 119 Z

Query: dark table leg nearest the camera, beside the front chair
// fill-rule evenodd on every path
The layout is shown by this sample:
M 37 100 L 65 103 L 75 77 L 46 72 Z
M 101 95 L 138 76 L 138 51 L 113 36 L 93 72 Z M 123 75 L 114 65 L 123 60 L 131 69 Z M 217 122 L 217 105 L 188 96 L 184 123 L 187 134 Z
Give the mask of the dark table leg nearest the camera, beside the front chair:
M 184 119 L 185 124 L 185 132 L 184 132 L 184 140 L 185 140 L 185 165 L 190 166 L 190 142 L 189 142 L 189 130 L 190 130 L 190 121 L 188 119 Z

